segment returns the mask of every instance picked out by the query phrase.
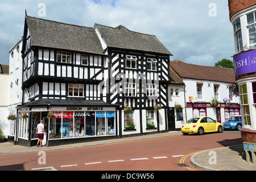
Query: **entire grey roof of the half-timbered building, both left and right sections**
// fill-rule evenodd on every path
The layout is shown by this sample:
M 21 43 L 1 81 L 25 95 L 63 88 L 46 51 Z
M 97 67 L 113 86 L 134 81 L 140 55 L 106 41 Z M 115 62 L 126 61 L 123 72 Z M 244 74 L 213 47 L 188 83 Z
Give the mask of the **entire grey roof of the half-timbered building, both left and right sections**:
M 103 54 L 100 39 L 95 28 L 55 22 L 52 20 L 26 16 L 32 46 L 65 49 L 88 53 Z M 130 31 L 118 27 L 95 24 L 108 47 L 146 51 L 172 55 L 155 35 Z

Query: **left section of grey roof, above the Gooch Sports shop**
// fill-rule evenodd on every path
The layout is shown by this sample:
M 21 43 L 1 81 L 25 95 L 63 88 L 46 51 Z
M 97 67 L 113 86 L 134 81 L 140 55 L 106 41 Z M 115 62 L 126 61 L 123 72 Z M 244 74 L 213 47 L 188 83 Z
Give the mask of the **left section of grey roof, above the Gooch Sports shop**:
M 26 16 L 32 46 L 103 54 L 94 28 Z

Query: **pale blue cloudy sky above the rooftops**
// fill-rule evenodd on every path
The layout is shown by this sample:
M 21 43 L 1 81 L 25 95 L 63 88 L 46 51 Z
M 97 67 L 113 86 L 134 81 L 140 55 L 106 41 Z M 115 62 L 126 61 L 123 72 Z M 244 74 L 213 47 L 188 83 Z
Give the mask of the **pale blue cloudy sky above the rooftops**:
M 40 16 L 40 3 L 46 16 Z M 156 35 L 174 54 L 171 60 L 185 63 L 213 66 L 232 60 L 235 52 L 228 0 L 0 0 L 0 64 L 9 64 L 9 51 L 23 35 L 25 9 L 30 16 L 64 23 L 122 24 Z

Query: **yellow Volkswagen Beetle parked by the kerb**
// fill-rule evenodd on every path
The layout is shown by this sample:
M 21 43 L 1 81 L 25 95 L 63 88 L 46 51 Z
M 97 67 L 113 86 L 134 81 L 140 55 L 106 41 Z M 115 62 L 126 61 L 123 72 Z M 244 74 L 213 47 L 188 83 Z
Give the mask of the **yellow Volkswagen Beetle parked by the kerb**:
M 218 123 L 209 117 L 191 118 L 181 128 L 181 132 L 184 135 L 188 135 L 189 133 L 197 133 L 199 135 L 203 135 L 204 133 L 216 131 L 218 131 L 218 133 L 222 133 L 223 126 L 221 125 L 221 123 Z

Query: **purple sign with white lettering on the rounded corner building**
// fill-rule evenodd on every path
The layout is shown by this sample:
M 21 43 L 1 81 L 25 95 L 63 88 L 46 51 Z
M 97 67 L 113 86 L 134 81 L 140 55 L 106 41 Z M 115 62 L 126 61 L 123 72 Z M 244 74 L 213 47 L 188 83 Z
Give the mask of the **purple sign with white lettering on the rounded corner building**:
M 235 76 L 256 72 L 256 49 L 234 56 Z

